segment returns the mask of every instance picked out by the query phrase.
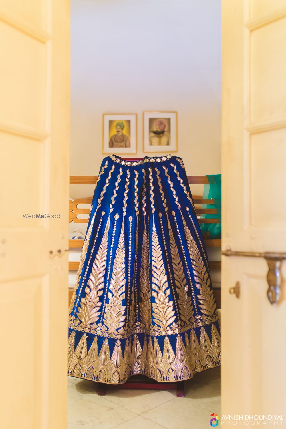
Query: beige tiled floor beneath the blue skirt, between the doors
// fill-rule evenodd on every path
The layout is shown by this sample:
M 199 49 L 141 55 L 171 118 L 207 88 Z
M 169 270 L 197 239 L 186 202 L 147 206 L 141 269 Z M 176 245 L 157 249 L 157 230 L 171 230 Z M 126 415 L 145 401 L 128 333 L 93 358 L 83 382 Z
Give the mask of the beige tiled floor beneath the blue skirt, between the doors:
M 185 381 L 184 398 L 173 390 L 111 387 L 99 396 L 97 383 L 68 379 L 68 429 L 201 429 L 211 413 L 220 415 L 220 368 Z

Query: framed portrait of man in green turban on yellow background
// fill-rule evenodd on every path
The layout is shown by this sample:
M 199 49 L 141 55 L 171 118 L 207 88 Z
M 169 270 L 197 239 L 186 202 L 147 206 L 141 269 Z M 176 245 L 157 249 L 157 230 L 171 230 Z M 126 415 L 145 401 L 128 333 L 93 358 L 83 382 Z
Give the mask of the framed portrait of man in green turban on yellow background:
M 135 154 L 137 151 L 137 114 L 103 113 L 102 153 Z

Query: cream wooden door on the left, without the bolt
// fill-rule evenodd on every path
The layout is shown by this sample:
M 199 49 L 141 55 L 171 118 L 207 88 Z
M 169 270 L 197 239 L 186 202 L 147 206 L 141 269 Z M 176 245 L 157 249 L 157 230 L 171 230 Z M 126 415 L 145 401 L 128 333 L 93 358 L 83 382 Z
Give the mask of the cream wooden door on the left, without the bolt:
M 0 0 L 0 58 L 0 426 L 61 429 L 67 384 L 69 1 Z

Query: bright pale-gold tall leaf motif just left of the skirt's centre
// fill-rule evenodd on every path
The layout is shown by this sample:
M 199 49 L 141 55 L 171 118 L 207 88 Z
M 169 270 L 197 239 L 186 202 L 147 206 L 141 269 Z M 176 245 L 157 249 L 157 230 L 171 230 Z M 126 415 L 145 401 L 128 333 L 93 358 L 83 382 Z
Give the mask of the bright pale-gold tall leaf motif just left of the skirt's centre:
M 110 333 L 124 325 L 125 306 L 122 301 L 125 298 L 125 248 L 124 248 L 124 218 L 121 226 L 120 237 L 114 258 L 111 281 L 108 290 L 108 304 L 105 305 L 104 324 Z

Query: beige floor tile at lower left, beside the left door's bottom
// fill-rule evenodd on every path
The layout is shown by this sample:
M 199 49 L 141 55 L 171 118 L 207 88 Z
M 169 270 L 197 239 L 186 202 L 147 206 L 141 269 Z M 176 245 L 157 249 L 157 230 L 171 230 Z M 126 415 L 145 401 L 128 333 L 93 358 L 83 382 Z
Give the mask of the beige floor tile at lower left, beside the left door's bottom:
M 68 429 L 110 429 L 136 416 L 97 395 L 96 390 L 83 389 L 79 384 L 68 388 Z

